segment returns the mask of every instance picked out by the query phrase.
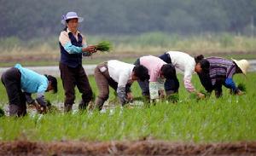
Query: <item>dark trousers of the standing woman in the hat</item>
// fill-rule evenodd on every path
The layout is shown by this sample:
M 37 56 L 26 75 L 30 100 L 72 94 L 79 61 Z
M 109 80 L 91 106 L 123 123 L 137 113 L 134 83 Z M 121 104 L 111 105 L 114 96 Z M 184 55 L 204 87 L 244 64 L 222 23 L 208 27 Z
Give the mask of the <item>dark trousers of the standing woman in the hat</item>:
M 70 67 L 60 62 L 61 80 L 65 90 L 65 106 L 72 106 L 75 100 L 75 86 L 82 93 L 82 103 L 87 106 L 92 100 L 92 90 L 82 65 Z

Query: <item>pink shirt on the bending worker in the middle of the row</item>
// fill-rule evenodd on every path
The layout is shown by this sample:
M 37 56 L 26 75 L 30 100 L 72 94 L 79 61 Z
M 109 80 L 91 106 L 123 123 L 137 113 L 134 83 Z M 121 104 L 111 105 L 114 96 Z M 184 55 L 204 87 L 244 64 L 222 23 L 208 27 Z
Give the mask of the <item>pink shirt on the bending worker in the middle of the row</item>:
M 160 77 L 160 69 L 166 62 L 153 55 L 147 55 L 140 58 L 140 64 L 148 68 L 149 82 L 157 82 L 157 78 Z

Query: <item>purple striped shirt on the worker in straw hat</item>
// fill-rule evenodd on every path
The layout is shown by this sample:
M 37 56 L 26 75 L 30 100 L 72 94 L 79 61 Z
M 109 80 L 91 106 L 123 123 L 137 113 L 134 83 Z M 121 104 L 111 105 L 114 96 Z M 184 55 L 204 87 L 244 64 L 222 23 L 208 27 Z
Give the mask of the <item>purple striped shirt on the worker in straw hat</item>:
M 233 61 L 221 57 L 207 57 L 210 62 L 209 74 L 212 85 L 216 83 L 217 78 L 232 78 L 236 73 L 236 64 Z

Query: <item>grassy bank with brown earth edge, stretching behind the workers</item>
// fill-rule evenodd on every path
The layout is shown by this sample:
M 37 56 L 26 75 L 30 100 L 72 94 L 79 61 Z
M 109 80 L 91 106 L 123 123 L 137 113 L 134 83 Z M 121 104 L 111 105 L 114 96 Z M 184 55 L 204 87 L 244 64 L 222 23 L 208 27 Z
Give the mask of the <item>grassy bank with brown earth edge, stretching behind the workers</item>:
M 180 36 L 161 32 L 148 32 L 137 36 L 88 36 L 89 44 L 102 40 L 113 43 L 109 54 L 96 54 L 84 62 L 95 64 L 106 59 L 122 61 L 140 55 L 161 55 L 168 50 L 179 50 L 190 55 L 219 55 L 236 59 L 255 59 L 256 38 L 233 34 L 201 34 Z M 60 58 L 57 35 L 52 38 L 35 38 L 29 41 L 19 38 L 0 38 L 0 66 L 11 66 L 15 62 L 27 66 L 56 65 Z

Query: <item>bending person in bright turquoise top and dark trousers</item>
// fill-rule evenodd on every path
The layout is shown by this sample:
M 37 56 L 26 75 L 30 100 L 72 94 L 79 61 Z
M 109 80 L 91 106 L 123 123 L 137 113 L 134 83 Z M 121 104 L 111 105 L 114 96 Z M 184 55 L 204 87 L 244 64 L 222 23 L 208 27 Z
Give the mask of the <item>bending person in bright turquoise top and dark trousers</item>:
M 38 93 L 36 101 L 40 107 L 37 109 L 45 113 L 47 102 L 44 99 L 44 92 L 53 90 L 56 93 L 58 90 L 55 77 L 40 75 L 20 64 L 3 72 L 1 80 L 9 98 L 9 116 L 26 115 L 26 102 L 37 104 L 31 97 L 32 93 Z

